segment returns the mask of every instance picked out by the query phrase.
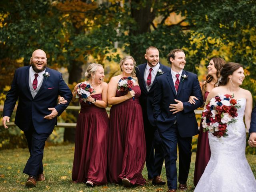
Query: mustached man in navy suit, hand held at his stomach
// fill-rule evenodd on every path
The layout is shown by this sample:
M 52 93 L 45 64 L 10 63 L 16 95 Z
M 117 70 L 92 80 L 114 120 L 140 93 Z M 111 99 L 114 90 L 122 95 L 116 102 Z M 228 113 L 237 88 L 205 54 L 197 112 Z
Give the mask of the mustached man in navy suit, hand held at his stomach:
M 165 148 L 165 167 L 168 192 L 177 190 L 177 144 L 179 148 L 179 190 L 187 190 L 190 169 L 192 136 L 198 134 L 194 110 L 203 104 L 202 92 L 196 74 L 185 71 L 186 56 L 183 50 L 174 49 L 168 54 L 171 70 L 159 76 L 154 91 L 153 112 L 156 126 Z M 196 96 L 196 104 L 188 102 Z

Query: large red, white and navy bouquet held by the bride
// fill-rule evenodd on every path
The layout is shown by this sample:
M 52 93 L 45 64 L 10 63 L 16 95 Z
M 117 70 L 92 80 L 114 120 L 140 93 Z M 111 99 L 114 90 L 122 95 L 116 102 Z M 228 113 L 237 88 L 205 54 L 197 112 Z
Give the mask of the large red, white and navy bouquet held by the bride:
M 226 94 L 212 98 L 202 113 L 204 132 L 209 131 L 217 138 L 228 136 L 227 126 L 236 122 L 238 108 L 240 105 L 234 95 Z

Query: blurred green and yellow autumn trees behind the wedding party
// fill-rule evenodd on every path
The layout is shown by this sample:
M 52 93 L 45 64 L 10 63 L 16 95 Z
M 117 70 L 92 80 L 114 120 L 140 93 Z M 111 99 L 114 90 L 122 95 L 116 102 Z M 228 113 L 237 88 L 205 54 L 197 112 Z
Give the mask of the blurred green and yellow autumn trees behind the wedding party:
M 243 87 L 256 99 L 256 4 L 254 0 L 2 0 L 0 2 L 0 102 L 14 70 L 28 65 L 35 49 L 60 70 L 73 89 L 86 64 L 103 64 L 105 81 L 119 72 L 124 55 L 145 62 L 148 46 L 167 54 L 186 52 L 186 70 L 203 81 L 212 56 L 246 68 Z M 78 103 L 74 104 L 78 105 Z M 73 122 L 77 113 L 64 115 Z M 74 136 L 66 130 L 65 140 Z M 69 138 L 70 136 L 70 138 Z

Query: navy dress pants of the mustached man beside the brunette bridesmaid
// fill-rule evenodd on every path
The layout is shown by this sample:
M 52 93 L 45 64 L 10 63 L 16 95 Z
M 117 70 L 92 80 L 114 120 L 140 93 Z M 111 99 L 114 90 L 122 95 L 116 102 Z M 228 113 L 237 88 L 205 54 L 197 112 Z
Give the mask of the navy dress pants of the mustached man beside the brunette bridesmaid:
M 177 144 L 179 149 L 179 183 L 186 184 L 191 162 L 192 137 L 182 138 L 177 123 L 160 133 L 165 148 L 165 168 L 169 189 L 177 189 Z

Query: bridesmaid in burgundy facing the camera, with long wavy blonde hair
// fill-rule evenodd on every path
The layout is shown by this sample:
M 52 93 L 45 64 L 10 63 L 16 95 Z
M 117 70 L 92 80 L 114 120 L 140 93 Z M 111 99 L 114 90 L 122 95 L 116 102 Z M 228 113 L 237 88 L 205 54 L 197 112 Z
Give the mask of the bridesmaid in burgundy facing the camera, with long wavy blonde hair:
M 120 61 L 122 74 L 112 77 L 108 84 L 108 103 L 112 105 L 108 144 L 109 179 L 111 183 L 122 181 L 124 186 L 146 183 L 142 176 L 146 160 L 146 142 L 135 64 L 131 56 L 123 58 Z M 136 80 L 132 90 L 117 91 L 118 81 L 129 76 Z

